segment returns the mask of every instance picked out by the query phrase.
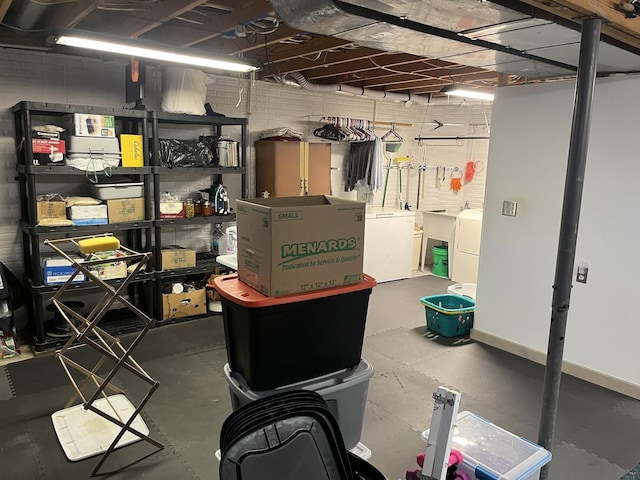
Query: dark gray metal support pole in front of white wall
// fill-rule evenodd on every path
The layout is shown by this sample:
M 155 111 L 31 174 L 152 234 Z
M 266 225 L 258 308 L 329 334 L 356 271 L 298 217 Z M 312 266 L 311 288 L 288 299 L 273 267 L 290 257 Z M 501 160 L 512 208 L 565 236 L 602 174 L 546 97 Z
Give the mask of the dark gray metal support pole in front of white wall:
M 602 19 L 600 18 L 587 18 L 582 22 L 573 123 L 569 143 L 569 160 L 564 185 L 558 257 L 553 284 L 549 347 L 544 375 L 540 430 L 538 432 L 538 443 L 549 451 L 553 449 L 553 437 L 558 413 L 564 336 L 567 328 L 573 265 L 576 255 L 576 241 L 578 239 L 578 221 L 580 219 L 582 188 L 584 186 L 584 172 L 589 146 L 591 106 L 598 67 L 597 59 L 601 25 Z M 546 480 L 548 474 L 549 464 L 542 468 L 540 478 Z

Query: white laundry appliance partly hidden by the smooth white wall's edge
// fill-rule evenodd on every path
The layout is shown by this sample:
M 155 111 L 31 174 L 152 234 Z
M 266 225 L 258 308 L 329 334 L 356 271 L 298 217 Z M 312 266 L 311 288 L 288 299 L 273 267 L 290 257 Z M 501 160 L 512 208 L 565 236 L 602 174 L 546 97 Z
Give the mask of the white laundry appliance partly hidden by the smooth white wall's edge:
M 482 210 L 463 210 L 456 217 L 453 270 L 451 280 L 477 283 L 482 234 Z

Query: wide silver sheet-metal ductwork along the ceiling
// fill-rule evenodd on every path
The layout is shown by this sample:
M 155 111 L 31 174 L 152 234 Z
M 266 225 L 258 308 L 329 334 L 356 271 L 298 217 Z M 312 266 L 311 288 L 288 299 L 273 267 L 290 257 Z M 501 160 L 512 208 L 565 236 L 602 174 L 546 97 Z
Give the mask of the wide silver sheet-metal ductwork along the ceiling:
M 389 52 L 531 79 L 573 76 L 580 33 L 477 0 L 270 0 L 299 30 Z M 603 43 L 599 72 L 640 70 L 635 53 Z

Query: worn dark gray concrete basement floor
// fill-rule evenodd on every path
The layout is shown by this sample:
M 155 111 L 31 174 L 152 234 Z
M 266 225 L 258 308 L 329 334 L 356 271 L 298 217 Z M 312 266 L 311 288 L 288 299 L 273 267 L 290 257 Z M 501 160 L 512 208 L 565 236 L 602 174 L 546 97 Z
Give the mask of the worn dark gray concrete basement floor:
M 375 374 L 362 442 L 373 453 L 370 462 L 389 480 L 404 478 L 424 449 L 421 432 L 429 426 L 431 395 L 439 385 L 462 393 L 461 410 L 531 440 L 537 437 L 542 366 L 469 339 L 443 339 L 426 331 L 419 299 L 446 292 L 450 283 L 418 277 L 379 285 L 371 296 L 363 357 Z M 97 359 L 87 348 L 73 355 L 83 364 Z M 222 372 L 221 317 L 152 330 L 135 358 L 161 382 L 143 417 L 166 448 L 107 478 L 217 478 L 218 434 L 231 412 Z M 133 403 L 145 393 L 129 374 L 119 374 L 115 383 Z M 53 356 L 0 367 L 3 478 L 88 478 L 97 458 L 68 462 L 50 420 L 72 393 Z M 563 378 L 551 479 L 619 479 L 640 462 L 638 445 L 640 402 Z M 152 451 L 142 442 L 120 449 L 107 471 Z

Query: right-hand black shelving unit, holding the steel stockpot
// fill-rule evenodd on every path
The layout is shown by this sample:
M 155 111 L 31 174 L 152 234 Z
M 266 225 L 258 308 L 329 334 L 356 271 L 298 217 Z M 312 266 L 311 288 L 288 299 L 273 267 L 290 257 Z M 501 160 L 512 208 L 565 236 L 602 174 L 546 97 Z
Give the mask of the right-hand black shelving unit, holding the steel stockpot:
M 161 187 L 160 182 L 162 178 L 168 178 L 169 176 L 176 177 L 185 175 L 198 175 L 208 176 L 211 178 L 211 183 L 217 183 L 222 181 L 224 175 L 240 175 L 241 176 L 241 197 L 244 198 L 247 195 L 247 119 L 246 118 L 231 118 L 231 117 L 209 117 L 198 115 L 183 115 L 164 112 L 151 112 L 151 137 L 152 137 L 152 170 L 153 170 L 153 182 L 154 182 L 154 211 L 160 211 L 160 195 Z M 237 135 L 237 129 L 240 129 L 240 141 L 239 141 L 239 161 L 237 167 L 166 167 L 160 163 L 160 138 L 162 136 L 163 129 L 206 129 L 210 135 L 214 137 L 221 137 L 223 133 L 227 133 L 229 130 L 235 130 Z M 197 135 L 194 135 L 197 138 Z M 158 215 L 157 215 L 158 216 Z M 189 321 L 201 317 L 210 316 L 198 315 L 186 318 L 176 318 L 171 320 L 162 319 L 162 283 L 168 281 L 171 278 L 185 277 L 190 275 L 205 274 L 208 272 L 214 272 L 216 269 L 225 269 L 220 264 L 216 263 L 215 257 L 211 252 L 203 251 L 196 254 L 196 266 L 190 268 L 181 268 L 175 270 L 162 270 L 161 250 L 162 250 L 162 230 L 163 228 L 184 228 L 191 225 L 214 225 L 216 223 L 231 222 L 235 220 L 235 214 L 229 215 L 213 215 L 208 217 L 198 216 L 193 218 L 156 218 L 153 222 L 154 225 L 154 257 L 155 257 L 155 278 L 156 278 L 156 326 L 172 325 L 184 321 Z

